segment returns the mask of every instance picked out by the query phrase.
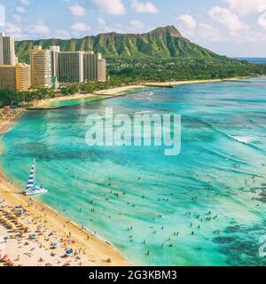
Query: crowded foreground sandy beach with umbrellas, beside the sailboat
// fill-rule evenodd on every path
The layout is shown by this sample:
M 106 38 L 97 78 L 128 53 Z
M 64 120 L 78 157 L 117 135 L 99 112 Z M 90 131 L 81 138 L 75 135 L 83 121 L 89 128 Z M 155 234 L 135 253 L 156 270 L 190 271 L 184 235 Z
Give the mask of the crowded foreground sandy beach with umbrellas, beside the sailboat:
M 16 215 L 17 209 L 24 213 Z M 21 228 L 27 230 L 22 230 L 22 233 Z M 29 238 L 34 235 L 36 238 Z M 110 243 L 75 225 L 39 201 L 27 198 L 2 173 L 0 236 L 0 259 L 1 254 L 2 257 L 7 255 L 14 265 L 129 265 Z M 4 238 L 9 241 L 4 243 Z M 72 251 L 69 256 L 66 255 L 67 250 Z

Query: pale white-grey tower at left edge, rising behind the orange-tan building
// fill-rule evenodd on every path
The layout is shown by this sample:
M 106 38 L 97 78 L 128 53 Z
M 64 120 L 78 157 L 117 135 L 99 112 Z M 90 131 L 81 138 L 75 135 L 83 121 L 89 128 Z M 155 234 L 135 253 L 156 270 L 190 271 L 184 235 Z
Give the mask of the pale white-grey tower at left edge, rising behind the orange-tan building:
M 16 65 L 14 36 L 4 36 L 0 33 L 0 65 Z

